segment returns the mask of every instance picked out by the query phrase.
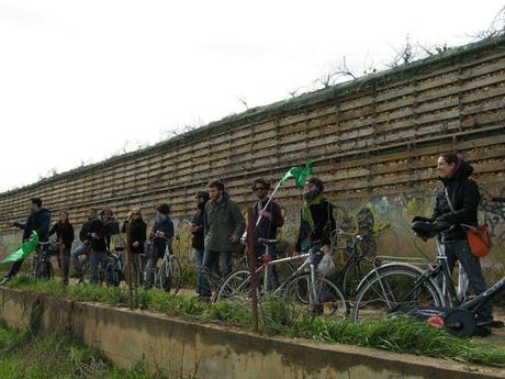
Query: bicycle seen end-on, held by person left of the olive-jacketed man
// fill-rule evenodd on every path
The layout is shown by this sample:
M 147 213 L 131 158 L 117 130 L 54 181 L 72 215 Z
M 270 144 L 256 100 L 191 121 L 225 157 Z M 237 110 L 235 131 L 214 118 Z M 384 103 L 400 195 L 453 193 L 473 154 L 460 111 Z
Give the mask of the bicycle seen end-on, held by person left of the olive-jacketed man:
M 155 239 L 156 238 L 165 239 L 166 247 L 164 257 L 161 260 L 158 260 L 156 267 L 154 268 L 154 285 L 166 292 L 173 291 L 173 294 L 176 294 L 179 292 L 182 282 L 181 264 L 171 252 L 171 239 L 160 235 L 155 235 Z M 142 263 L 142 260 L 139 261 Z M 147 282 L 146 266 L 143 266 L 139 269 L 144 272 L 144 282 Z

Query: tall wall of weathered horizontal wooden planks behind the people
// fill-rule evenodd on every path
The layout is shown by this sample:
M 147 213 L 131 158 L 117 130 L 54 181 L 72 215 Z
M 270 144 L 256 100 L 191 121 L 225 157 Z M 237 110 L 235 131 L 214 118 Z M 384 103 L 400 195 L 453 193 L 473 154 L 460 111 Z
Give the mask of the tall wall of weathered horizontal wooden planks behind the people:
M 481 181 L 503 181 L 503 40 L 495 47 L 472 47 L 472 54 L 462 49 L 438 64 L 427 62 L 426 69 L 414 74 L 403 75 L 400 68 L 358 80 L 326 90 L 333 94 L 319 102 L 285 112 L 259 111 L 254 120 L 244 118 L 229 127 L 217 122 L 177 143 L 2 193 L 0 234 L 11 232 L 7 221 L 25 215 L 32 196 L 42 197 L 54 211 L 70 211 L 72 220 L 104 204 L 119 216 L 134 205 L 149 214 L 161 201 L 170 202 L 177 216 L 193 211 L 194 192 L 209 179 L 221 178 L 245 204 L 254 177 L 279 178 L 307 157 L 339 198 L 430 188 L 437 155 L 454 148 L 464 152 Z M 423 68 L 423 63 L 417 66 Z M 288 186 L 279 196 L 289 203 L 299 193 Z

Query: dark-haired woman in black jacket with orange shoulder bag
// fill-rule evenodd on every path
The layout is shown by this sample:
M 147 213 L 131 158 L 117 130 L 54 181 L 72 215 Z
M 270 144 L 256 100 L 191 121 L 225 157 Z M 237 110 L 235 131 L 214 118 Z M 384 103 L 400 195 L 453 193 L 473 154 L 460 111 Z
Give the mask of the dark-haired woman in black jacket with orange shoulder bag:
M 470 250 L 467 239 L 467 231 L 463 226 L 478 225 L 478 210 L 481 201 L 479 185 L 470 179 L 473 167 L 456 154 L 444 154 L 437 161 L 438 178 L 444 187 L 438 191 L 435 200 L 433 221 L 447 222 L 453 225 L 446 233 L 442 241 L 446 247 L 447 264 L 452 271 L 457 260 L 467 272 L 470 287 L 475 294 L 481 294 L 487 289 L 481 269 L 479 257 Z M 493 306 L 491 301 L 476 314 L 478 334 L 486 336 L 491 334 L 493 321 Z

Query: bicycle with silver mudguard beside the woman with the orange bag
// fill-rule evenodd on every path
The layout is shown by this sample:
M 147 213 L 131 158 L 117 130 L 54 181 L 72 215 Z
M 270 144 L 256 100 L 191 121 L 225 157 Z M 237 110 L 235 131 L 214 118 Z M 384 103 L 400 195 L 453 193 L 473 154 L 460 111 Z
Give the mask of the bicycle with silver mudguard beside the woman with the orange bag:
M 493 198 L 492 201 L 505 202 L 505 198 Z M 375 268 L 358 288 L 351 320 L 358 321 L 361 316 L 382 319 L 392 313 L 402 313 L 442 325 L 449 333 L 460 337 L 471 337 L 478 326 L 491 324 L 492 321 L 478 322 L 475 315 L 487 301 L 505 290 L 505 277 L 481 294 L 460 301 L 444 246 L 444 234 L 451 227 L 446 222 L 413 222 L 412 228 L 416 233 L 430 233 L 436 237 L 437 264 L 426 269 L 407 263 L 385 264 Z

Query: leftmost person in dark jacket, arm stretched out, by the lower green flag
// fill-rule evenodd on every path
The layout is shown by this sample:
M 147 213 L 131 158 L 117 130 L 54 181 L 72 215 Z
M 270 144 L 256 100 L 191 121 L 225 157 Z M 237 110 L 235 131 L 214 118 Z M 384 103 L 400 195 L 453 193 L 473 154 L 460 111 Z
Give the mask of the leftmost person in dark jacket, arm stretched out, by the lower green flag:
M 32 198 L 30 199 L 31 212 L 26 218 L 26 222 L 13 222 L 12 226 L 23 230 L 23 241 L 31 238 L 33 232 L 37 232 L 40 242 L 47 242 L 49 238 L 48 232 L 50 227 L 50 212 L 49 210 L 42 208 L 42 199 Z M 5 274 L 5 277 L 0 281 L 0 286 L 3 286 L 11 280 L 20 270 L 24 259 L 16 260 L 12 264 L 10 270 Z

